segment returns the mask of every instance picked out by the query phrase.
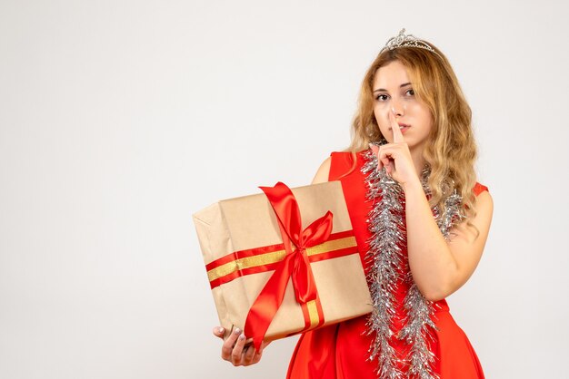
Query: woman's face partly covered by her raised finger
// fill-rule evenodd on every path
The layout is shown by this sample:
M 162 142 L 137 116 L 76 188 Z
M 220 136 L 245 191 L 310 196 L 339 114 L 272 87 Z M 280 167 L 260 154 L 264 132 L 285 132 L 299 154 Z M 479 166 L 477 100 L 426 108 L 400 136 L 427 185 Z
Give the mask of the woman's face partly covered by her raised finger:
M 394 61 L 377 69 L 373 92 L 375 120 L 385 140 L 393 142 L 389 112 L 394 112 L 409 149 L 423 151 L 433 117 L 426 104 L 415 97 L 405 66 Z

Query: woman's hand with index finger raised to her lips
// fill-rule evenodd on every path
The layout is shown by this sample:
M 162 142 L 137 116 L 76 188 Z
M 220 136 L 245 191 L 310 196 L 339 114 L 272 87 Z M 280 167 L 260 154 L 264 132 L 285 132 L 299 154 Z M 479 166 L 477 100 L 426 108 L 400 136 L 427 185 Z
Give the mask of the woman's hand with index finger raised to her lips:
M 377 170 L 385 168 L 387 174 L 403 186 L 412 180 L 418 180 L 417 170 L 393 112 L 389 112 L 389 122 L 393 131 L 393 142 L 370 147 L 377 155 Z

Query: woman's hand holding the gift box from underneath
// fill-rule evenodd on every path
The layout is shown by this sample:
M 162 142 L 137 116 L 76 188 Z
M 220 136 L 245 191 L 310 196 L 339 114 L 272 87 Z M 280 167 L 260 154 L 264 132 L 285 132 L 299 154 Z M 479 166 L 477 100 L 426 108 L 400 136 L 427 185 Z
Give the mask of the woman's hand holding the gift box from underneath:
M 223 339 L 225 329 L 223 327 L 217 326 L 214 328 L 214 335 Z M 224 345 L 221 346 L 221 357 L 233 365 L 251 365 L 256 364 L 261 360 L 261 355 L 263 355 L 263 350 L 266 345 L 270 343 L 263 343 L 261 349 L 256 351 L 253 344 L 246 345 L 245 341 L 247 338 L 243 334 L 241 329 L 235 329 L 231 335 L 227 337 Z

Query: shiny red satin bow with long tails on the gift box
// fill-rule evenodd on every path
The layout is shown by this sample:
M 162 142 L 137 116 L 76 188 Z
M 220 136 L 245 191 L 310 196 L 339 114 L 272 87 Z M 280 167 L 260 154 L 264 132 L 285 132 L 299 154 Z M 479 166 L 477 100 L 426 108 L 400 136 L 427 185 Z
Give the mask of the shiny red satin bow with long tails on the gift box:
M 283 303 L 284 290 L 290 277 L 293 278 L 294 295 L 299 304 L 315 300 L 316 284 L 306 256 L 306 248 L 324 243 L 332 232 L 332 212 L 316 219 L 308 228 L 302 229 L 300 209 L 293 192 L 280 181 L 275 187 L 260 187 L 275 210 L 286 256 L 275 269 L 265 287 L 249 309 L 245 321 L 245 335 L 253 337 L 258 350 L 276 311 Z M 296 247 L 291 247 L 291 242 Z

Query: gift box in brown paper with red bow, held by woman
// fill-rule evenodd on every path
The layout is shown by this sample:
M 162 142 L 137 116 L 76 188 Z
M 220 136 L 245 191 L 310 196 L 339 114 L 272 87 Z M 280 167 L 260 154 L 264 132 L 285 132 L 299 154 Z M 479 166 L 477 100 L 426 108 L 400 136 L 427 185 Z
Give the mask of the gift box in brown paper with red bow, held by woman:
M 194 215 L 225 336 L 259 347 L 371 312 L 341 183 L 261 189 Z

